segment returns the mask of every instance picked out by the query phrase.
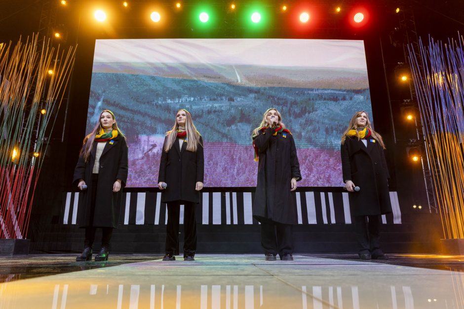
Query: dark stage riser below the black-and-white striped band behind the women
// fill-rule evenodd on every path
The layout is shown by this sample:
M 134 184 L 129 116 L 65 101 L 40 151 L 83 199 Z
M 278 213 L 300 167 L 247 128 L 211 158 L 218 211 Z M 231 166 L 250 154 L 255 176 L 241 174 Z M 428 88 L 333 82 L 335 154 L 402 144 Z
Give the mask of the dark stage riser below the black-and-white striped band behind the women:
M 56 226 L 58 228 L 58 226 Z M 260 253 L 260 226 L 204 226 L 198 225 L 198 252 L 201 253 Z M 183 226 L 180 230 L 180 248 L 183 246 Z M 354 226 L 300 225 L 294 229 L 295 252 L 355 252 Z M 76 226 L 50 229 L 40 239 L 31 243 L 31 253 L 71 253 L 80 252 L 83 245 L 83 229 Z M 411 253 L 430 252 L 427 237 L 409 224 L 385 224 L 382 226 L 382 246 L 387 252 Z M 101 231 L 97 230 L 95 250 L 101 241 Z M 165 226 L 119 226 L 112 240 L 113 253 L 153 253 L 164 254 Z

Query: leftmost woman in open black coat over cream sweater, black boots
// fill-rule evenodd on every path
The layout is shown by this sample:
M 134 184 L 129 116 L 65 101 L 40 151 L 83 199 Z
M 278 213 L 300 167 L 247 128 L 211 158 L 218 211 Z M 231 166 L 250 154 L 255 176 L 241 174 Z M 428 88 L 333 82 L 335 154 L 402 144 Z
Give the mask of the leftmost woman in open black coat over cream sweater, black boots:
M 127 180 L 127 144 L 115 114 L 104 110 L 92 133 L 84 139 L 73 183 L 82 190 L 77 224 L 85 228 L 84 250 L 76 261 L 92 259 L 97 228 L 103 229 L 102 246 L 95 261 L 107 261 L 113 229 L 121 205 L 121 188 Z

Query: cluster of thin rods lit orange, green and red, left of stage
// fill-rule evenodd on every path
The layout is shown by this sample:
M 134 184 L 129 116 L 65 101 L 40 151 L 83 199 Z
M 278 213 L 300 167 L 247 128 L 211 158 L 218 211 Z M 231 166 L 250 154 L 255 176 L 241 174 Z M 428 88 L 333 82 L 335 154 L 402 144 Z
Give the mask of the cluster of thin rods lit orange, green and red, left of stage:
M 0 44 L 0 239 L 25 239 L 48 140 L 75 60 L 33 34 Z

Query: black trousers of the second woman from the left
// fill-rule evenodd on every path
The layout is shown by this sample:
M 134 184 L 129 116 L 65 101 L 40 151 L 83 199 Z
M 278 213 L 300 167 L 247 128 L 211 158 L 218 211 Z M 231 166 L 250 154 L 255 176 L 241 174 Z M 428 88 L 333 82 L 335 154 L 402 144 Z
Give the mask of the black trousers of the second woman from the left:
M 180 206 L 184 205 L 184 257 L 196 252 L 196 203 L 175 201 L 167 203 L 166 254 L 179 254 Z

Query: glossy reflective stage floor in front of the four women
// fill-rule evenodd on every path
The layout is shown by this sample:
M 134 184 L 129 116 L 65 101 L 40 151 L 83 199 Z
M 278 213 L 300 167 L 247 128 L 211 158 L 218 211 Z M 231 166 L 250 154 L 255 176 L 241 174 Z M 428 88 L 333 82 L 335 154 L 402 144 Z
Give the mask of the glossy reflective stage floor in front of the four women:
M 264 261 L 255 254 L 197 254 L 162 262 L 157 255 L 0 258 L 0 309 L 329 309 L 464 308 L 464 256 L 295 255 Z

